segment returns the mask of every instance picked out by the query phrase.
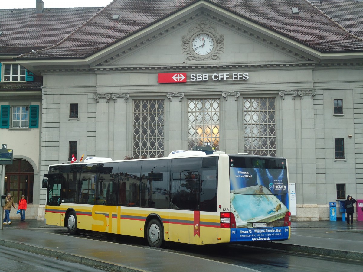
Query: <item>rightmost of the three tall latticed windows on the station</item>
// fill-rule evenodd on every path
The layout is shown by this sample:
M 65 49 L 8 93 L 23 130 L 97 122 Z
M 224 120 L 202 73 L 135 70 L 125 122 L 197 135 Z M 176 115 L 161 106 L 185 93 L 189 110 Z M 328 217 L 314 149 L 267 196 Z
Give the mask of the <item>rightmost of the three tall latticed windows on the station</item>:
M 276 156 L 275 99 L 245 98 L 243 106 L 245 152 Z

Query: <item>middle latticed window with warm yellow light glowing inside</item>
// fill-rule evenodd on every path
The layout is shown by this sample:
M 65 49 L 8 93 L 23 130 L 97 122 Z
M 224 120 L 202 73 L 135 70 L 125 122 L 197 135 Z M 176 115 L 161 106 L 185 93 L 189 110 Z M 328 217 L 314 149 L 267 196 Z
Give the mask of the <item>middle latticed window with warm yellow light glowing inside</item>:
M 219 99 L 188 99 L 188 144 L 219 150 Z

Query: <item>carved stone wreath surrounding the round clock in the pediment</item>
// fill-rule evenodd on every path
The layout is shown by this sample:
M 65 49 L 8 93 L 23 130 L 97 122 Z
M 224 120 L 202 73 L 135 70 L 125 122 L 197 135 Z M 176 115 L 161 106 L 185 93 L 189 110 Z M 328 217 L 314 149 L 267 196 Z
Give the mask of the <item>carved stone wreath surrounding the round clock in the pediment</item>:
M 197 34 L 208 34 L 213 38 L 215 46 L 211 53 L 207 55 L 198 55 L 192 49 L 192 39 Z M 187 55 L 188 60 L 196 60 L 196 61 L 205 61 L 208 59 L 220 59 L 221 53 L 224 52 L 224 36 L 218 35 L 217 29 L 215 26 L 210 24 L 207 21 L 200 21 L 195 26 L 189 28 L 188 34 L 181 38 L 181 53 L 185 53 Z

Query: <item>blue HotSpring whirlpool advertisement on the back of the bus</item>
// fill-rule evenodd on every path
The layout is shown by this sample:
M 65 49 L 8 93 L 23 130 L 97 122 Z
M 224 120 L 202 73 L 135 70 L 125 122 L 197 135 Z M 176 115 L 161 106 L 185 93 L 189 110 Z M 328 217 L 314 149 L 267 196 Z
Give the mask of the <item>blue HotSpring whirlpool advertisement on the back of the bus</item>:
M 236 218 L 231 240 L 288 239 L 286 169 L 229 168 L 229 171 L 231 212 Z

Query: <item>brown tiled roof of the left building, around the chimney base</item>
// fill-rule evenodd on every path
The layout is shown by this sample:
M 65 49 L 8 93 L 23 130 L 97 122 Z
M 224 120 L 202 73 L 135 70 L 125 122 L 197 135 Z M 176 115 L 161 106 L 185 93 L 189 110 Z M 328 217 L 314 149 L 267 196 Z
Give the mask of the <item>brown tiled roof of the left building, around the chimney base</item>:
M 41 14 L 35 8 L 0 9 L 0 55 L 54 45 L 102 8 L 45 8 Z

